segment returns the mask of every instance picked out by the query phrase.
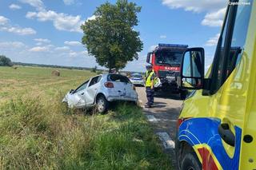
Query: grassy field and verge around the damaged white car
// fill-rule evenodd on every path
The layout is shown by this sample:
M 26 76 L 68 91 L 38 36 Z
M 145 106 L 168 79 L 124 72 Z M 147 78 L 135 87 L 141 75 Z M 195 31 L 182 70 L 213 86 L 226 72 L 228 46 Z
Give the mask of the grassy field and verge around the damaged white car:
M 94 73 L 52 70 L 0 67 L 0 169 L 171 169 L 142 109 L 66 109 L 64 94 Z

